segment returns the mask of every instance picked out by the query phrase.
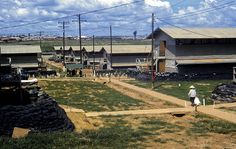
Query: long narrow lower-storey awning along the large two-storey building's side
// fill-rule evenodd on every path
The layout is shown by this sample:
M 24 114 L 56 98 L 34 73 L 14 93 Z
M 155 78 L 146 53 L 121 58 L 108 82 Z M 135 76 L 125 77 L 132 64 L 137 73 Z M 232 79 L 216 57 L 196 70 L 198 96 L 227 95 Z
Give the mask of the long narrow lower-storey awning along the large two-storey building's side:
M 236 63 L 236 59 L 194 59 L 194 60 L 176 60 L 177 65 L 194 64 L 230 64 Z

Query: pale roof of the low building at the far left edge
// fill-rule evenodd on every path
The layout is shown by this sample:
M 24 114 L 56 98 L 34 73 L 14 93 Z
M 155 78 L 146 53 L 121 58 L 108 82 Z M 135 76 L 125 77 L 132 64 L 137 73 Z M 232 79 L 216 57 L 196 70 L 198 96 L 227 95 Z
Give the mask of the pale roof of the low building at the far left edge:
M 9 45 L 0 46 L 1 54 L 41 53 L 40 46 Z

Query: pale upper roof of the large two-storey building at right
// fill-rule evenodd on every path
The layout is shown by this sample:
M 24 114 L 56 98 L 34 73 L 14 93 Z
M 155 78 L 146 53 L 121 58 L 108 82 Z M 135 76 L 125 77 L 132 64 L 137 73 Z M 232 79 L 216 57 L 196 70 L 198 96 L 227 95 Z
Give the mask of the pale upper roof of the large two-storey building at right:
M 158 28 L 174 39 L 214 39 L 214 38 L 236 38 L 236 28 Z M 147 38 L 151 38 L 149 35 Z

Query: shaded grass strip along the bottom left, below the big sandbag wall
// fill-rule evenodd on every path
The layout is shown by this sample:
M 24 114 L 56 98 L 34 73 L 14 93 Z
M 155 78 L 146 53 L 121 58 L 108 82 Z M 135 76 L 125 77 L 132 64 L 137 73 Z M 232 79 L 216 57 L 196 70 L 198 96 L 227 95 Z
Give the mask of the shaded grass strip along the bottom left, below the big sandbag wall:
M 130 148 L 140 146 L 146 135 L 134 130 L 118 118 L 98 130 L 85 130 L 80 134 L 70 132 L 31 134 L 21 139 L 0 138 L 1 148 Z M 141 147 L 141 146 L 140 146 Z

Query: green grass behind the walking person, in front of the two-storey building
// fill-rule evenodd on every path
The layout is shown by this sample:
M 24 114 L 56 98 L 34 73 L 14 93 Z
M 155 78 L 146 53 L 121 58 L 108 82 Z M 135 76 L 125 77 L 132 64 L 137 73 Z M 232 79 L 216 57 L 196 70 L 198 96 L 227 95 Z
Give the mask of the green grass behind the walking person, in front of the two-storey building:
M 127 81 L 144 88 L 151 88 L 151 82 L 143 81 Z M 206 104 L 212 104 L 211 93 L 219 83 L 229 83 L 230 80 L 204 80 L 204 81 L 158 81 L 155 84 L 155 91 L 167 95 L 175 96 L 180 99 L 189 100 L 188 91 L 189 86 L 194 85 L 197 90 L 197 96 L 200 100 L 206 99 Z

